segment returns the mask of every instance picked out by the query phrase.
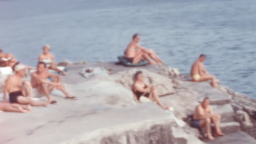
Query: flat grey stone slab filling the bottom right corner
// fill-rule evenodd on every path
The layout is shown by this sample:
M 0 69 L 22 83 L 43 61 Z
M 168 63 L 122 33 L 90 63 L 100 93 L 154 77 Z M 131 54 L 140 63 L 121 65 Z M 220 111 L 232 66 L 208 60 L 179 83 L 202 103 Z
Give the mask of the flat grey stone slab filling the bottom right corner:
M 217 137 L 215 140 L 206 141 L 207 144 L 255 144 L 256 140 L 247 135 L 243 131 L 237 131 L 222 137 Z

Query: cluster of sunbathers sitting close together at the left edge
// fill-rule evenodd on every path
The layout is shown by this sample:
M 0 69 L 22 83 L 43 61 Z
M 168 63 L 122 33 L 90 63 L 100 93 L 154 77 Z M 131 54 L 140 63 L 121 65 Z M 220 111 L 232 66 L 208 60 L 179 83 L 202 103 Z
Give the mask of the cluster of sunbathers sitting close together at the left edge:
M 14 75 L 10 75 L 5 81 L 3 103 L 0 104 L 0 110 L 10 112 L 29 112 L 31 110 L 31 106 L 47 106 L 48 104 L 54 104 L 57 101 L 50 96 L 50 93 L 54 89 L 58 89 L 65 94 L 66 99 L 75 99 L 75 97 L 69 94 L 62 85 L 60 76 L 48 71 L 49 69 L 52 69 L 62 75 L 65 75 L 64 71 L 57 69 L 54 63 L 54 56 L 49 52 L 49 50 L 49 45 L 43 46 L 43 53 L 38 58 L 39 62 L 37 64 L 37 69 L 31 74 L 30 81 L 24 81 L 23 77 L 26 73 L 29 73 L 28 70 L 31 70 L 32 68 L 19 63 L 13 55 L 4 54 L 3 51 L 0 50 L 0 52 L 2 52 L 0 53 L 1 59 L 6 56 L 11 56 L 8 61 L 4 61 L 3 63 L 1 62 L 1 65 L 3 65 L 2 67 L 11 67 L 14 71 Z M 45 59 L 48 61 L 47 63 L 45 62 Z M 49 77 L 51 77 L 51 81 L 48 79 Z M 45 95 L 48 100 L 33 100 L 33 88 L 35 88 L 37 93 L 40 95 Z M 10 103 L 7 102 L 7 94 L 9 94 Z

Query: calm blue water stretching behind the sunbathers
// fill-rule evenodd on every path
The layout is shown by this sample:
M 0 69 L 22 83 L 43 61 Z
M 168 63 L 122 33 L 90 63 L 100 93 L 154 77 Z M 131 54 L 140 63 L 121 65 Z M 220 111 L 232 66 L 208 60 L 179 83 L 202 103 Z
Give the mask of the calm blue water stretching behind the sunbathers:
M 133 33 L 170 67 L 189 73 L 201 54 L 223 85 L 256 98 L 255 0 L 0 0 L 0 49 L 36 65 L 44 44 L 57 61 L 116 61 Z

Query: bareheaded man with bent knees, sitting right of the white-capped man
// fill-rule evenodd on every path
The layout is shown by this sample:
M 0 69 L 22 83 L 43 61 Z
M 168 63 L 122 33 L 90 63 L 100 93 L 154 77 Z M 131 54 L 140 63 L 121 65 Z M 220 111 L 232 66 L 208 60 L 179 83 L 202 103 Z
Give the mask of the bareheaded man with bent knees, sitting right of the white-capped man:
M 53 78 L 53 81 L 49 81 L 49 77 Z M 39 94 L 45 95 L 51 104 L 57 102 L 50 96 L 50 93 L 54 89 L 59 89 L 64 93 L 66 95 L 66 99 L 75 98 L 66 91 L 65 87 L 61 83 L 60 76 L 50 73 L 44 62 L 39 62 L 37 64 L 37 71 L 31 75 L 31 84 L 33 88 L 37 89 Z

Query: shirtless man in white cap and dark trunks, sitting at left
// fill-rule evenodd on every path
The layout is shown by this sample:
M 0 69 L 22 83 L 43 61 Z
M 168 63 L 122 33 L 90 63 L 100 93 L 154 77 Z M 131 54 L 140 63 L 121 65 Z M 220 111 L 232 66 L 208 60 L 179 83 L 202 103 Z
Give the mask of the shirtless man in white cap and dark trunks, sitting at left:
M 3 103 L 7 103 L 6 94 L 9 93 L 10 103 L 18 103 L 22 105 L 47 106 L 47 101 L 32 100 L 32 87 L 30 82 L 23 82 L 22 77 L 26 73 L 25 65 L 16 65 L 15 74 L 11 75 L 5 81 Z

